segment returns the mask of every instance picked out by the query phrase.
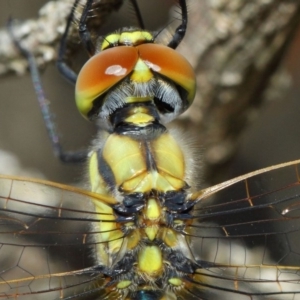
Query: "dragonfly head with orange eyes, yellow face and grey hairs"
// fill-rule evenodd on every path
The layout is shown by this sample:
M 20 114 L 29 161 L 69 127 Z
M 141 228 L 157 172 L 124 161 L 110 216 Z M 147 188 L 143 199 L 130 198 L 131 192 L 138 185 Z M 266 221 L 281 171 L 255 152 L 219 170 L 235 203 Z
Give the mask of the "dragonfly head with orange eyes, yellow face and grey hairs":
M 110 34 L 100 49 L 76 82 L 76 104 L 84 117 L 109 122 L 126 105 L 149 102 L 168 123 L 191 105 L 196 90 L 191 65 L 174 49 L 155 44 L 148 31 Z

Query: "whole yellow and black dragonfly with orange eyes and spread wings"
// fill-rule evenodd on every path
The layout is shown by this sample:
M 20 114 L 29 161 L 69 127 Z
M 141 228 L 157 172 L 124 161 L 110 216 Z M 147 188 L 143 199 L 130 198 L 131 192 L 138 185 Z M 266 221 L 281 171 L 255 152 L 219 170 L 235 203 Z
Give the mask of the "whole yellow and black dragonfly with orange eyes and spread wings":
M 91 189 L 0 177 L 0 299 L 300 299 L 300 160 L 197 190 L 197 160 L 167 127 L 195 93 L 175 50 L 186 1 L 168 45 L 141 24 L 100 49 L 92 4 L 79 23 L 91 58 L 61 72 L 103 130 L 71 158 L 52 139 L 64 160 L 87 160 Z

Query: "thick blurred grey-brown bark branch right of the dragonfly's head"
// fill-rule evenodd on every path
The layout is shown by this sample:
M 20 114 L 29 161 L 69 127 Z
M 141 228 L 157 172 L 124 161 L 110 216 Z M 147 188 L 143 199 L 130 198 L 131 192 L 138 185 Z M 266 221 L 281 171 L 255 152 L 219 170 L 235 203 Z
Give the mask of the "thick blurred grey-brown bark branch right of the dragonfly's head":
M 181 49 L 195 66 L 198 91 L 186 122 L 216 179 L 266 96 L 282 96 L 287 80 L 277 71 L 299 27 L 300 2 L 195 1 L 189 20 Z

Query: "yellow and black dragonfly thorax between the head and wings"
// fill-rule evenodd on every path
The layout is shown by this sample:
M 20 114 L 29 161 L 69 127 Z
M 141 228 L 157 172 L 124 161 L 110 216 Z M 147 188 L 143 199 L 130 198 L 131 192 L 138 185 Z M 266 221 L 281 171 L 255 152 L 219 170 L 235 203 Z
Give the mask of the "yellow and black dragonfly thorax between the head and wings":
M 171 254 L 183 254 L 183 249 L 188 249 L 174 229 L 184 222 L 170 221 L 172 212 L 165 195 L 184 194 L 189 186 L 183 150 L 152 110 L 152 104 L 139 103 L 120 113 L 123 120 L 116 126 L 117 133 L 109 134 L 100 143 L 102 147 L 93 150 L 90 174 L 93 192 L 113 194 L 119 201 L 114 207 L 95 203 L 97 212 L 110 213 L 110 220 L 115 221 L 99 224 L 99 232 L 105 232 L 95 238 L 98 261 L 112 269 L 124 264 L 116 288 L 147 290 L 155 283 L 161 293 L 164 286 L 181 282 L 179 275 L 175 276 L 180 271 L 172 266 Z M 121 224 L 119 221 L 126 217 L 129 220 Z M 127 270 L 128 261 L 133 265 Z

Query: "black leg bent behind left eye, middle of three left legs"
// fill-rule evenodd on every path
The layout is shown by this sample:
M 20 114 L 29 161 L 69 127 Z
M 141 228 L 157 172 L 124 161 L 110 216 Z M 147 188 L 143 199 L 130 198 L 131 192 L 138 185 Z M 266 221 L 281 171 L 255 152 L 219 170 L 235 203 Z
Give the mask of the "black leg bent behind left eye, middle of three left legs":
M 76 83 L 77 74 L 65 62 L 65 54 L 66 54 L 66 50 L 67 50 L 68 33 L 70 30 L 70 27 L 71 27 L 71 24 L 72 24 L 72 21 L 74 18 L 75 9 L 76 9 L 78 3 L 79 3 L 79 0 L 76 0 L 72 7 L 72 11 L 69 15 L 69 18 L 67 20 L 67 26 L 66 26 L 65 32 L 64 32 L 61 42 L 60 42 L 58 58 L 56 61 L 56 66 L 57 66 L 57 69 L 59 70 L 59 72 L 73 85 L 75 85 L 75 83 Z

